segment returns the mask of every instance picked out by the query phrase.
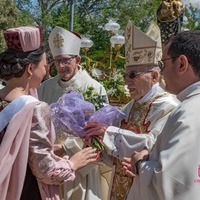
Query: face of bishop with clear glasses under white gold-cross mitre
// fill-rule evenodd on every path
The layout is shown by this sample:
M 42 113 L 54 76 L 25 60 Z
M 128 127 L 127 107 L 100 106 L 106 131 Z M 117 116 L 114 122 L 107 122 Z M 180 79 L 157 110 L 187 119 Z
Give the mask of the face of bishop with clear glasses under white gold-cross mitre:
M 79 55 L 60 55 L 54 59 L 60 78 L 69 81 L 79 70 L 81 57 Z

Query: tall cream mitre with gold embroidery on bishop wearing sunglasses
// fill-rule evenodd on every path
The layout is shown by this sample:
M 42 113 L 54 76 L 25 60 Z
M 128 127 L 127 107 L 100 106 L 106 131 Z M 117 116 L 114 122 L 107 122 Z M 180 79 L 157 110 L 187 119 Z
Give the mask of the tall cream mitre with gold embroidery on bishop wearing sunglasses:
M 151 22 L 146 33 L 138 29 L 131 21 L 125 32 L 126 66 L 157 66 L 162 56 L 160 28 Z

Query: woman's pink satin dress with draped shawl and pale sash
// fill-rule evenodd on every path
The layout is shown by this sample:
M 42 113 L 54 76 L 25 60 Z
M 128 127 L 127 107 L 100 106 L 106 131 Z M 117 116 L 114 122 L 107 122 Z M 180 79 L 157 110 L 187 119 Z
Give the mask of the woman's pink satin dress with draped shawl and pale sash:
M 0 124 L 1 133 L 4 133 L 0 155 L 1 160 L 10 161 L 1 163 L 0 189 L 14 189 L 18 195 L 15 199 L 20 200 L 61 199 L 60 185 L 74 180 L 75 172 L 69 156 L 60 158 L 53 153 L 55 136 L 49 106 L 29 95 L 18 97 L 11 103 L 0 100 L 0 105 L 1 120 L 3 112 L 7 112 L 5 121 L 9 121 L 6 127 Z M 13 187 L 12 180 L 19 181 L 18 187 Z M 14 199 L 16 193 L 3 192 L 3 199 Z

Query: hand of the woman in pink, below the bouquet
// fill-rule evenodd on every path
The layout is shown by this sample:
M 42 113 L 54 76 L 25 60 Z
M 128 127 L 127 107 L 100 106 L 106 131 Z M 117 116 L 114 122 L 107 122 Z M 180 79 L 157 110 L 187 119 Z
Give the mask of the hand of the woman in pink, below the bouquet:
M 70 161 L 73 163 L 73 169 L 76 171 L 77 169 L 86 166 L 90 162 L 96 161 L 96 156 L 96 149 L 92 147 L 87 147 L 74 154 L 70 158 Z

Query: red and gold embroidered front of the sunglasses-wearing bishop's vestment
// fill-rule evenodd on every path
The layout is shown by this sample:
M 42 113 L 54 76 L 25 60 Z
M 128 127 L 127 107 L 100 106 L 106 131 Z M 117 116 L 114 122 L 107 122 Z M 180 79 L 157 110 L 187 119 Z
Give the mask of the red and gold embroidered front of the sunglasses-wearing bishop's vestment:
M 159 98 L 159 96 L 157 96 L 156 98 Z M 137 134 L 148 134 L 148 127 L 150 125 L 150 121 L 146 122 L 146 117 L 148 116 L 148 113 L 151 109 L 152 102 L 155 101 L 156 98 L 154 98 L 151 102 L 145 102 L 143 104 L 135 102 L 129 114 L 128 121 L 126 122 L 125 120 L 122 120 L 121 128 L 134 131 Z M 125 173 L 120 159 L 115 158 L 114 165 L 115 174 L 113 177 L 111 199 L 126 199 L 126 196 L 132 185 L 133 178 L 129 177 Z

